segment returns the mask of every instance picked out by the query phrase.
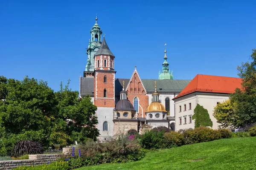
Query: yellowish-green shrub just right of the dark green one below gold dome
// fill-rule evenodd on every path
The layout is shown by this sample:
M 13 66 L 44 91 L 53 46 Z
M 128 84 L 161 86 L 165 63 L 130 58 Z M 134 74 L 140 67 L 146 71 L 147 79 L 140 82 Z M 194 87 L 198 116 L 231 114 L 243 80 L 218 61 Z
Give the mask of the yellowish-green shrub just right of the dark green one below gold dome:
M 163 137 L 165 139 L 166 148 L 181 146 L 184 142 L 182 133 L 175 131 L 164 133 Z

